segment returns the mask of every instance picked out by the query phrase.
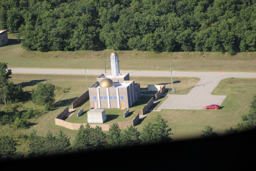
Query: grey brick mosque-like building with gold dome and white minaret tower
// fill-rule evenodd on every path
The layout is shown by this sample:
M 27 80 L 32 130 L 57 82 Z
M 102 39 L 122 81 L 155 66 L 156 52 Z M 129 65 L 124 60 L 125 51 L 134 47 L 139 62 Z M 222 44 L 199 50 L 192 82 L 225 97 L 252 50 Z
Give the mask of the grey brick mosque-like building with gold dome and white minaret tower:
M 120 74 L 118 54 L 112 52 L 111 74 L 101 74 L 89 87 L 91 108 L 129 108 L 141 97 L 140 84 Z

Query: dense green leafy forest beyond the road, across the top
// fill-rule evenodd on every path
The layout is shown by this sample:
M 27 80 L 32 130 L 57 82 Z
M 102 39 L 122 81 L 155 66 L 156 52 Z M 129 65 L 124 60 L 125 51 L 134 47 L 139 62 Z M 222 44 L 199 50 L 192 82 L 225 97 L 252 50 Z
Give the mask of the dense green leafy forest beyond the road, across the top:
M 246 52 L 256 49 L 254 0 L 0 1 L 0 29 L 38 51 Z

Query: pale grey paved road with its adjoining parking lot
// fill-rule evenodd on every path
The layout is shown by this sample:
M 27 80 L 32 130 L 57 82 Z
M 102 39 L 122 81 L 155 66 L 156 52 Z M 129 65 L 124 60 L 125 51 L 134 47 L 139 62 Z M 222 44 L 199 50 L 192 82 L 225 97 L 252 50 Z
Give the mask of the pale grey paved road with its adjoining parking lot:
M 85 74 L 85 70 L 74 69 L 23 69 L 9 68 L 12 73 L 38 73 L 38 74 Z M 129 73 L 131 76 L 171 76 L 170 72 L 157 71 L 120 71 Z M 105 73 L 103 70 L 88 70 L 89 75 L 100 75 Z M 107 71 L 111 73 L 111 71 Z M 175 72 L 173 77 L 199 77 L 200 81 L 187 95 L 170 95 L 158 109 L 204 109 L 204 106 L 210 104 L 219 104 L 225 100 L 226 95 L 211 95 L 211 92 L 222 80 L 219 73 L 200 73 L 200 72 Z M 232 77 L 256 78 L 256 73 L 224 73 L 223 79 Z

